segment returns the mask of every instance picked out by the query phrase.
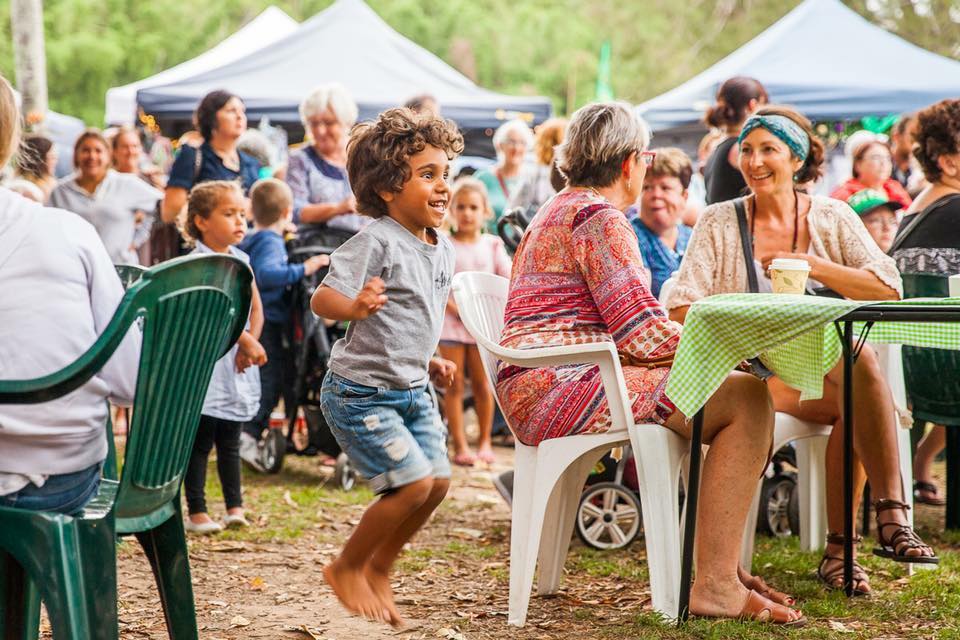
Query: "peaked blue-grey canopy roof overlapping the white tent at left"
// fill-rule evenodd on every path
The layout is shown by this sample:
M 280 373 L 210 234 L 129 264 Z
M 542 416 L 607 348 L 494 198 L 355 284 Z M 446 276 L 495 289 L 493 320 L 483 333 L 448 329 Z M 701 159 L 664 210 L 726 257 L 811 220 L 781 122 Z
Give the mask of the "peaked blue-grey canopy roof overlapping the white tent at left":
M 315 86 L 340 82 L 360 107 L 360 118 L 433 94 L 443 115 L 461 127 L 496 127 L 521 114 L 548 118 L 547 98 L 518 97 L 478 87 L 423 47 L 404 38 L 361 0 L 338 0 L 290 36 L 218 69 L 137 92 L 144 111 L 189 117 L 208 91 L 243 98 L 251 119 L 299 122 L 297 107 Z

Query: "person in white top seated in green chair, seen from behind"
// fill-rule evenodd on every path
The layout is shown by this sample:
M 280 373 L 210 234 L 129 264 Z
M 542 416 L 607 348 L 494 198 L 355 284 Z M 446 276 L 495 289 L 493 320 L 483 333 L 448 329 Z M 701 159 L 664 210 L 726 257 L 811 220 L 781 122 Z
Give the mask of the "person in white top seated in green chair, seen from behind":
M 0 76 L 0 165 L 16 148 L 20 114 Z M 60 371 L 110 322 L 123 286 L 89 223 L 0 188 L 0 379 Z M 41 404 L 0 405 L 0 505 L 76 513 L 92 498 L 107 455 L 107 402 L 129 404 L 136 328 L 80 388 Z

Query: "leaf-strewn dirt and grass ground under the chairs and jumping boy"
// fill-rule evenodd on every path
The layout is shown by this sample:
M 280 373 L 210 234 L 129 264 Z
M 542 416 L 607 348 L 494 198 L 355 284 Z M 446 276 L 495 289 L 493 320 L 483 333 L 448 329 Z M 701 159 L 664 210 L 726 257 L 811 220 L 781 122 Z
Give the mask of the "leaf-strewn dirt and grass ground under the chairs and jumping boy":
M 827 593 L 813 575 L 818 554 L 798 539 L 760 537 L 754 567 L 799 597 L 810 624 L 796 631 L 759 623 L 692 621 L 678 630 L 650 610 L 642 540 L 600 552 L 574 540 L 559 594 L 534 596 L 527 626 L 507 627 L 510 512 L 490 483 L 509 467 L 498 448 L 493 470 L 456 468 L 448 499 L 402 556 L 394 580 L 409 624 L 396 631 L 347 615 L 320 569 L 337 552 L 370 492 L 344 492 L 316 458 L 289 457 L 264 476 L 244 470 L 244 497 L 254 526 L 216 537 L 190 538 L 200 637 L 226 638 L 960 638 L 960 534 L 943 534 L 943 510 L 921 506 L 921 533 L 942 564 L 906 575 L 901 565 L 874 558 L 872 538 L 862 560 L 875 595 L 847 600 Z M 942 472 L 942 465 L 938 467 Z M 208 504 L 223 507 L 211 459 Z M 149 566 L 134 541 L 119 550 L 123 638 L 166 638 Z M 47 636 L 49 637 L 49 636 Z

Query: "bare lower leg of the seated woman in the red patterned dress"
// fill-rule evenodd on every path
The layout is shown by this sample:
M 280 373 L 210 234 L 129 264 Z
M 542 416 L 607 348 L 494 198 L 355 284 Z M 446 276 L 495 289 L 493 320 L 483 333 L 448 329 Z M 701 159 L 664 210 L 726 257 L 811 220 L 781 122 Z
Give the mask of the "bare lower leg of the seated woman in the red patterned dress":
M 689 438 L 691 425 L 679 412 L 667 427 Z M 690 611 L 698 615 L 736 617 L 749 591 L 740 582 L 741 532 L 773 437 L 773 406 L 757 378 L 734 372 L 707 402 L 704 442 L 710 445 L 703 466 L 697 513 L 697 574 Z M 799 612 L 770 602 L 790 620 Z

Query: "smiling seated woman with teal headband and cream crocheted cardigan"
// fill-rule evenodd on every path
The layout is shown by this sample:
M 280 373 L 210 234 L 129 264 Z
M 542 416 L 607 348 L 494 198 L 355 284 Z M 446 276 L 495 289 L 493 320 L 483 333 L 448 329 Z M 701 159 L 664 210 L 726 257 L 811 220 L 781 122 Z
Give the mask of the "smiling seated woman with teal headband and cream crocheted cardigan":
M 766 269 L 774 258 L 807 261 L 810 285 L 828 287 L 852 300 L 900 298 L 902 283 L 896 264 L 877 247 L 853 210 L 839 200 L 808 196 L 797 189 L 797 185 L 819 178 L 823 164 L 823 145 L 805 117 L 785 107 L 763 107 L 744 123 L 739 147 L 740 171 L 750 195 L 711 205 L 703 212 L 680 265 L 677 284 L 666 300 L 672 319 L 682 322 L 690 305 L 706 296 L 770 292 Z M 750 264 L 744 257 L 745 246 L 757 257 Z M 747 269 L 756 277 L 748 275 Z M 933 550 L 909 526 L 893 398 L 873 351 L 864 349 L 854 375 L 853 401 L 859 418 L 854 432 L 856 501 L 869 478 L 871 492 L 877 497 L 874 505 L 881 552 L 898 562 L 935 563 Z M 831 479 L 827 485 L 830 533 L 817 570 L 831 589 L 843 584 L 843 487 L 834 480 L 842 477 L 842 380 L 840 364 L 826 375 L 823 398 L 804 402 L 798 391 L 778 378 L 768 380 L 777 411 L 834 425 L 826 460 Z M 858 594 L 870 592 L 867 574 L 859 564 L 854 578 Z

